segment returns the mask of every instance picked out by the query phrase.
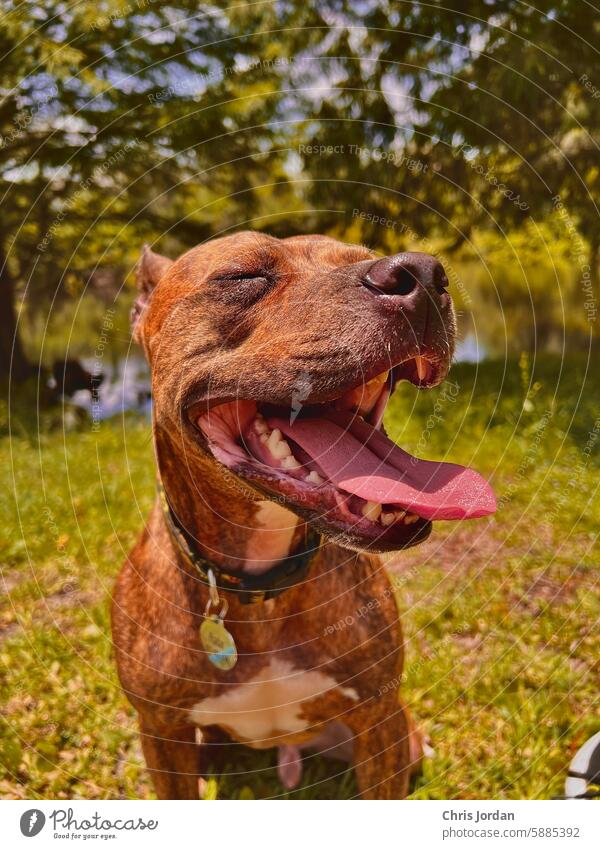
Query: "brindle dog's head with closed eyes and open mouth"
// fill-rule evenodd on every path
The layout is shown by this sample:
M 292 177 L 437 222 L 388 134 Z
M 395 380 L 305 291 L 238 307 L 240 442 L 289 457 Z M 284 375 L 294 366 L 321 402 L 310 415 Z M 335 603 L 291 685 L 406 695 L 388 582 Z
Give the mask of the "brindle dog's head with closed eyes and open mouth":
M 455 319 L 434 257 L 243 232 L 176 262 L 146 249 L 138 281 L 155 426 L 176 434 L 188 474 L 210 457 L 248 498 L 361 549 L 495 509 L 477 473 L 417 460 L 381 428 L 399 381 L 427 388 L 448 372 Z

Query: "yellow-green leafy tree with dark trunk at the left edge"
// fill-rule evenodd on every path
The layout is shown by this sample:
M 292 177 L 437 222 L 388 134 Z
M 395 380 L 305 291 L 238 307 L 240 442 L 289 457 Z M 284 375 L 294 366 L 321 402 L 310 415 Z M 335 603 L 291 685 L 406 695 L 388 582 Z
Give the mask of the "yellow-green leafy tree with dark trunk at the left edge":
M 19 380 L 30 369 L 16 333 L 17 290 L 35 306 L 64 294 L 67 279 L 81 289 L 99 268 L 124 274 L 144 238 L 200 241 L 213 231 L 197 214 L 203 204 L 229 193 L 230 219 L 239 220 L 253 207 L 254 185 L 277 170 L 257 156 L 273 145 L 267 98 L 243 113 L 256 129 L 235 132 L 236 69 L 254 55 L 231 38 L 217 5 L 7 6 L 0 21 L 0 378 L 12 362 Z M 262 14 L 268 18 L 268 9 Z M 224 153 L 243 169 L 211 172 Z

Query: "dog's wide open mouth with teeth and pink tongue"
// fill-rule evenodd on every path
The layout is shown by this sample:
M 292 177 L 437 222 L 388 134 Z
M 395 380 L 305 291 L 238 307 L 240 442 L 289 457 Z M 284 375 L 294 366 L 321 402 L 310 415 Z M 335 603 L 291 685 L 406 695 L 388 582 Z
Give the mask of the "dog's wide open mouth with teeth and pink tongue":
M 396 384 L 433 385 L 433 368 L 417 357 L 327 403 L 236 400 L 195 423 L 217 460 L 328 536 L 359 548 L 404 548 L 424 539 L 434 519 L 496 509 L 477 472 L 419 460 L 381 429 Z

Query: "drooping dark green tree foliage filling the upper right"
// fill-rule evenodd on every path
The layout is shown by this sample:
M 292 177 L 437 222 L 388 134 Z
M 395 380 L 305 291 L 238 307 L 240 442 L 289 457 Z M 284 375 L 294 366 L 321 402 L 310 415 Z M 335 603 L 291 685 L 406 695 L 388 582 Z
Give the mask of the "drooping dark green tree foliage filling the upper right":
M 554 218 L 587 290 L 600 260 L 600 18 L 589 5 L 342 3 L 337 21 L 324 57 L 335 96 L 308 141 L 346 145 L 305 157 L 314 205 L 325 205 L 325 175 L 348 181 L 344 201 L 371 213 L 370 241 L 385 235 L 373 219 L 401 216 L 446 250 L 477 229 L 504 238 Z

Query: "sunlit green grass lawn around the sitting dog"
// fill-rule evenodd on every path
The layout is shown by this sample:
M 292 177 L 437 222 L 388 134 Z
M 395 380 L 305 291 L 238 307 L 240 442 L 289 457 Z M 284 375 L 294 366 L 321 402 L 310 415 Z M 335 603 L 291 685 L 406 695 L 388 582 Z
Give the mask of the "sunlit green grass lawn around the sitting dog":
M 547 798 L 600 729 L 599 375 L 583 360 L 522 358 L 459 365 L 450 380 L 426 393 L 403 384 L 388 430 L 419 456 L 491 477 L 500 508 L 441 523 L 390 559 L 402 692 L 435 750 L 413 795 Z M 149 798 L 108 602 L 154 497 L 150 429 L 133 416 L 98 433 L 71 415 L 50 425 L 38 435 L 17 411 L 13 438 L 0 438 L 0 796 Z M 282 795 L 273 763 L 248 751 L 239 780 L 211 793 Z M 354 792 L 350 771 L 312 759 L 292 795 Z

